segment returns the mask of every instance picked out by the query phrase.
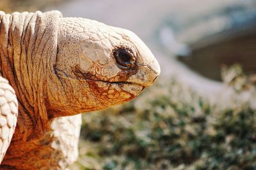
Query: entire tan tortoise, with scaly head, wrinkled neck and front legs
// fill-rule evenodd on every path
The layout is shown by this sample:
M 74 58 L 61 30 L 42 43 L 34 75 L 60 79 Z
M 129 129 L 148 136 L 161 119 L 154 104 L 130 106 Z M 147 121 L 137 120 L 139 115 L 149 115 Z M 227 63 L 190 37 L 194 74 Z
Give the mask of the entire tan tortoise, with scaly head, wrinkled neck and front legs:
M 160 73 L 152 52 L 131 31 L 62 18 L 60 12 L 0 12 L 0 19 L 0 73 L 6 84 L 0 92 L 8 86 L 19 101 L 16 128 L 16 121 L 4 121 L 16 118 L 15 95 L 7 105 L 16 110 L 3 109 L 0 101 L 2 169 L 63 169 L 75 160 L 70 155 L 77 150 L 81 118 L 59 117 L 132 100 Z

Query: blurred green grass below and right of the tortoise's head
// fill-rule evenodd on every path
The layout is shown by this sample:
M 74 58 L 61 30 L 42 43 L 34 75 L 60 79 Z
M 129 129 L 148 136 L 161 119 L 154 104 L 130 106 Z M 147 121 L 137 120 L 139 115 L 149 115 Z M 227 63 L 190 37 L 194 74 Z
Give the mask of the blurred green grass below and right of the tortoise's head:
M 225 73 L 233 76 L 229 86 L 247 80 Z M 255 86 L 242 82 L 225 106 L 170 79 L 125 105 L 84 114 L 76 167 L 256 169 L 256 96 L 239 98 L 254 94 Z

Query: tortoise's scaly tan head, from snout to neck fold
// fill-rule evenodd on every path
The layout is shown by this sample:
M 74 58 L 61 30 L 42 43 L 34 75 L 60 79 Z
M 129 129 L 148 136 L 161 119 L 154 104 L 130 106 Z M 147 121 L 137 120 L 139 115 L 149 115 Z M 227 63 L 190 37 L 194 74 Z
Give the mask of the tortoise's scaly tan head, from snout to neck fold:
M 95 20 L 60 19 L 49 104 L 52 117 L 95 111 L 138 96 L 159 76 L 148 47 L 131 31 Z

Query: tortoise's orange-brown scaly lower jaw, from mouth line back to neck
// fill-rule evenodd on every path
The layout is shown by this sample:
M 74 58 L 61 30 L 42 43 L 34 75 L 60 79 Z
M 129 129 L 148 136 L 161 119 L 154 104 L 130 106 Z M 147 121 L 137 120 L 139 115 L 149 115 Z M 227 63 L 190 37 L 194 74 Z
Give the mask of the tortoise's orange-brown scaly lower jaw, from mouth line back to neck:
M 129 102 L 137 97 L 147 84 L 134 81 L 105 81 L 90 73 L 73 72 L 68 74 L 56 69 L 59 82 L 49 93 L 48 115 L 50 118 L 71 116 L 81 112 L 106 109 L 112 105 Z M 68 75 L 68 76 L 67 76 Z M 51 88 L 52 89 L 52 88 Z

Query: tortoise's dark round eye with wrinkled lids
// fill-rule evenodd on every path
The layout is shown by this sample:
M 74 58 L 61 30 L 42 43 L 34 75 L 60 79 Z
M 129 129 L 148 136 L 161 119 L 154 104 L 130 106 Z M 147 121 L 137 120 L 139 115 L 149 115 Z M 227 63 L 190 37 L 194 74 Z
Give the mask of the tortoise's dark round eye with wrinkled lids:
M 132 52 L 129 51 L 129 49 L 115 50 L 114 57 L 118 66 L 123 70 L 128 70 L 129 68 L 132 68 L 136 61 L 136 58 L 134 57 Z

